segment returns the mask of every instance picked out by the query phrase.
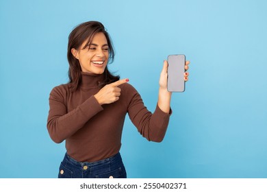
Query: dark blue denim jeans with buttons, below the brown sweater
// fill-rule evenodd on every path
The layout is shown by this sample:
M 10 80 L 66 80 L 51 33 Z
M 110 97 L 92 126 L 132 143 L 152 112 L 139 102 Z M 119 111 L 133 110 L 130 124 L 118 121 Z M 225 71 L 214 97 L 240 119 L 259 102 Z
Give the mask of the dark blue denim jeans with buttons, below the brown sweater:
M 65 154 L 58 178 L 127 178 L 120 153 L 96 162 L 78 162 Z

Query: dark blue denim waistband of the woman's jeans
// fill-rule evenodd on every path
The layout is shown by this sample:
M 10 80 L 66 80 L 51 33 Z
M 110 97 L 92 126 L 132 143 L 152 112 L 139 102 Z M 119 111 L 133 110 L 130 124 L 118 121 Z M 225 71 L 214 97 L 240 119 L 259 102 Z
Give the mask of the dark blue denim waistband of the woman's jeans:
M 121 161 L 122 159 L 121 159 L 120 153 L 118 153 L 110 158 L 105 158 L 103 160 L 98 160 L 94 162 L 79 162 L 75 160 L 74 158 L 71 158 L 71 156 L 68 156 L 68 154 L 66 153 L 63 161 L 65 160 L 68 163 L 71 163 L 72 165 L 77 166 L 77 167 L 81 167 L 84 165 L 88 167 L 92 167 L 92 166 L 98 166 L 98 165 L 107 164 L 107 163 L 116 163 L 117 161 Z

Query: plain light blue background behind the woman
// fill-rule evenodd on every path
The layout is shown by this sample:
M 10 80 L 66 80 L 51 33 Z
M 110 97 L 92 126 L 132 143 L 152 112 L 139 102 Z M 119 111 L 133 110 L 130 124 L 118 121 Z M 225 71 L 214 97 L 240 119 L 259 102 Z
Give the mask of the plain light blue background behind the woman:
M 112 36 L 110 69 L 151 111 L 163 60 L 191 62 L 162 143 L 127 117 L 129 178 L 267 178 L 266 2 L 1 0 L 0 178 L 57 177 L 65 149 L 47 132 L 49 93 L 68 81 L 68 34 L 91 20 Z

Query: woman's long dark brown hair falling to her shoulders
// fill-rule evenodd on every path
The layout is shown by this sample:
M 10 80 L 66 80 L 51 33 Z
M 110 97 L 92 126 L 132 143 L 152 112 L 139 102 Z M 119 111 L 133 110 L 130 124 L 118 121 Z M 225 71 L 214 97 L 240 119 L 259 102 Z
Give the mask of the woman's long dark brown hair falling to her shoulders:
M 71 85 L 71 90 L 76 91 L 79 87 L 79 84 L 81 83 L 81 66 L 79 64 L 79 60 L 73 56 L 73 53 L 71 53 L 71 49 L 79 49 L 81 47 L 82 43 L 84 43 L 85 40 L 88 40 L 86 45 L 90 44 L 92 42 L 92 39 L 94 38 L 94 35 L 97 33 L 103 33 L 105 35 L 105 38 L 107 38 L 107 45 L 108 45 L 108 51 L 109 51 L 109 59 L 108 63 L 112 63 L 114 61 L 114 48 L 112 45 L 112 40 L 110 38 L 110 35 L 105 30 L 105 27 L 102 23 L 98 21 L 88 21 L 85 23 L 81 23 L 68 36 L 68 77 L 69 77 L 69 84 Z M 81 49 L 84 49 L 86 47 L 82 47 Z M 105 86 L 105 84 L 110 84 L 112 82 L 116 82 L 120 79 L 120 77 L 112 75 L 110 71 L 105 67 L 104 71 L 105 80 L 101 84 L 99 84 L 100 87 Z

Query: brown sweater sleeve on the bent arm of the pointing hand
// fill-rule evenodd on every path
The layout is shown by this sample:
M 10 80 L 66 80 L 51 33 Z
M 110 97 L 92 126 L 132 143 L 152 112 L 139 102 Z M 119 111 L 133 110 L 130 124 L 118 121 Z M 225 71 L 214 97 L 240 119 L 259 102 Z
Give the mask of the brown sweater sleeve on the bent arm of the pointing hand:
M 47 129 L 51 139 L 55 143 L 61 143 L 84 124 L 99 113 L 103 108 L 99 105 L 94 96 L 90 96 L 86 101 L 68 112 L 66 104 L 67 93 L 58 86 L 53 88 L 49 97 L 49 115 L 47 119 Z

